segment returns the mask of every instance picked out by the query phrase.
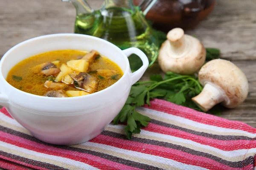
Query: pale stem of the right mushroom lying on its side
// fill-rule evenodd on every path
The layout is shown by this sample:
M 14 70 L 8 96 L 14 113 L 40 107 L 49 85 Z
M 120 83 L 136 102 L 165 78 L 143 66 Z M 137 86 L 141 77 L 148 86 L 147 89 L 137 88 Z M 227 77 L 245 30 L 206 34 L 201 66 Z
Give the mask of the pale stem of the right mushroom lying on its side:
M 203 111 L 209 111 L 213 106 L 227 99 L 225 92 L 212 83 L 206 83 L 203 91 L 193 97 L 192 100 Z

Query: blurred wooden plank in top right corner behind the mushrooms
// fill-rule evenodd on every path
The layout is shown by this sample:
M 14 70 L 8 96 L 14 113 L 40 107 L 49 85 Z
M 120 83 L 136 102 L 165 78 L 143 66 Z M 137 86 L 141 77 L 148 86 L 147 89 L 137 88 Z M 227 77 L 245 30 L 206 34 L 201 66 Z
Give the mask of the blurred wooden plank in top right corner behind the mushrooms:
M 255 8 L 253 0 L 217 0 L 208 19 L 187 33 L 206 47 L 220 48 L 224 59 L 256 59 Z

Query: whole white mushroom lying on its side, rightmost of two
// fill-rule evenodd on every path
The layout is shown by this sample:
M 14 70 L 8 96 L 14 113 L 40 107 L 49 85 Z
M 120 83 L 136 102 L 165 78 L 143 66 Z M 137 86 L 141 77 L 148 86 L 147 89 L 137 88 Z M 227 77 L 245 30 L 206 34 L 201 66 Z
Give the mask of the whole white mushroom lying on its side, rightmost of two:
M 232 62 L 214 59 L 207 62 L 198 74 L 203 91 L 192 98 L 203 111 L 221 103 L 226 108 L 240 105 L 248 94 L 248 80 Z

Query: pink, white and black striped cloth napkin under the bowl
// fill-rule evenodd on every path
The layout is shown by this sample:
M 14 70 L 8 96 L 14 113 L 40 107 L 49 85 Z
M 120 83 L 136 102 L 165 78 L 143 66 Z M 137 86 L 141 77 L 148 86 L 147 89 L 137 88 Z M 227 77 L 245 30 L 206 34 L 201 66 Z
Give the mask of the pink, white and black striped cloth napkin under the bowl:
M 155 99 L 137 111 L 152 120 L 127 140 L 108 125 L 82 144 L 35 139 L 5 108 L 0 113 L 0 167 L 12 170 L 253 170 L 256 129 Z

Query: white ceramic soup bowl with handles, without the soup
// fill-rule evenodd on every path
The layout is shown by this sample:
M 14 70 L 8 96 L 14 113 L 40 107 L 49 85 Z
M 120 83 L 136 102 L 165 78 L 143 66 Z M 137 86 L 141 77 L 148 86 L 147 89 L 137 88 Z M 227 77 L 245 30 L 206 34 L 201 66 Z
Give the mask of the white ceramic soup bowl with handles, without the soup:
M 124 75 L 110 87 L 87 96 L 51 98 L 14 88 L 5 78 L 18 62 L 47 51 L 76 49 L 99 51 L 115 62 Z M 127 57 L 137 54 L 143 66 L 131 73 Z M 15 45 L 0 60 L 0 105 L 33 136 L 51 144 L 78 144 L 99 135 L 124 106 L 131 85 L 148 67 L 148 59 L 138 48 L 120 50 L 100 38 L 81 34 L 52 34 Z

